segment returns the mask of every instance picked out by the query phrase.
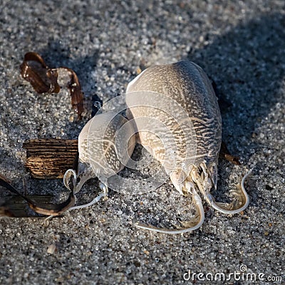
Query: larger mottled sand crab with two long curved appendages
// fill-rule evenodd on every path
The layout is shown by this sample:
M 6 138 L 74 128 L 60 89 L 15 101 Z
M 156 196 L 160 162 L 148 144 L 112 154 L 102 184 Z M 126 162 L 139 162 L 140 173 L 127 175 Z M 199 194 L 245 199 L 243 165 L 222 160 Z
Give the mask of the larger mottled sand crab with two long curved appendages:
M 145 91 L 145 92 L 142 92 Z M 147 91 L 151 91 L 147 93 Z M 157 113 L 152 102 L 153 92 L 164 95 L 167 102 L 172 108 L 172 113 L 175 113 L 174 117 L 171 114 L 167 119 L 163 116 L 163 112 Z M 140 93 L 140 96 L 136 94 Z M 150 106 L 142 104 L 142 102 L 135 105 L 133 103 L 133 97 L 135 100 L 150 103 Z M 142 97 L 144 96 L 144 97 Z M 169 98 L 175 100 L 177 105 L 173 105 Z M 161 100 L 161 110 L 165 110 L 165 100 Z M 137 225 L 142 229 L 150 229 L 155 232 L 164 233 L 181 233 L 188 232 L 193 229 L 197 229 L 202 225 L 204 220 L 204 210 L 202 207 L 202 201 L 197 194 L 198 190 L 204 196 L 204 199 L 214 208 L 220 212 L 227 214 L 234 214 L 241 212 L 248 205 L 249 199 L 247 193 L 244 190 L 244 179 L 240 189 L 233 192 L 234 201 L 230 204 L 222 204 L 214 202 L 214 198 L 210 194 L 212 187 L 217 188 L 217 163 L 219 149 L 222 141 L 222 119 L 219 112 L 219 105 L 217 103 L 217 97 L 214 94 L 212 84 L 207 78 L 202 68 L 190 61 L 180 61 L 177 63 L 152 66 L 143 71 L 137 78 L 131 81 L 127 88 L 126 102 L 130 111 L 128 117 L 134 118 L 135 121 L 146 116 L 150 119 L 158 118 L 165 123 L 171 132 L 175 136 L 175 143 L 172 147 L 177 148 L 177 161 L 175 169 L 167 170 L 170 175 L 170 179 L 175 185 L 175 188 L 186 195 L 189 193 L 192 195 L 193 202 L 196 205 L 198 212 L 198 219 L 194 219 L 192 222 L 185 223 L 186 229 L 160 229 L 157 227 L 147 225 Z M 156 108 L 156 106 L 155 106 Z M 185 110 L 189 119 L 191 120 L 192 128 L 185 128 L 182 126 L 182 132 L 177 133 L 177 123 L 180 124 L 180 112 Z M 169 113 L 167 110 L 166 113 Z M 138 124 L 137 124 L 138 125 Z M 193 136 L 194 130 L 194 136 Z M 151 136 L 147 136 L 146 132 L 140 132 L 140 126 L 138 126 L 138 133 L 140 136 L 140 143 L 142 146 L 146 145 L 148 148 L 152 148 L 152 154 L 161 161 L 160 146 L 155 145 L 155 140 L 151 139 Z M 190 140 L 190 144 L 182 139 L 182 133 L 184 133 L 186 140 Z M 163 133 L 160 133 L 162 140 L 167 140 Z M 195 157 L 191 154 L 188 156 L 190 160 L 185 160 L 185 152 L 190 147 L 195 149 Z M 183 175 L 181 175 L 183 173 Z M 181 180 L 181 178 L 183 178 Z

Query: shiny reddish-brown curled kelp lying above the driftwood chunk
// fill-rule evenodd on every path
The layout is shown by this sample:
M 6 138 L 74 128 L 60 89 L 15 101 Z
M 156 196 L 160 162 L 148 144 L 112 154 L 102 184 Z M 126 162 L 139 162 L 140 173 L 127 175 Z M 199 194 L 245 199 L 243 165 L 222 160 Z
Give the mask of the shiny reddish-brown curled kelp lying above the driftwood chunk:
M 37 93 L 58 93 L 61 87 L 58 85 L 58 71 L 63 69 L 68 73 L 70 80 L 66 83 L 71 93 L 71 104 L 81 119 L 83 113 L 84 96 L 76 73 L 71 68 L 49 68 L 38 53 L 28 52 L 20 66 L 21 76 L 31 83 Z

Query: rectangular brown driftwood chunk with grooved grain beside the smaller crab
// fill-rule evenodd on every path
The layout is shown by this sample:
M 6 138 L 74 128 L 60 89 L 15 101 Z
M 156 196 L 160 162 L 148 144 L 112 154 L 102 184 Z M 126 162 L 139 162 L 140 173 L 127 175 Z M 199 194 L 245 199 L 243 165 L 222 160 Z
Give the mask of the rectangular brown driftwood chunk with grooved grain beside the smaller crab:
M 32 177 L 63 178 L 66 170 L 77 168 L 77 140 L 34 139 L 24 142 L 23 147 L 26 148 L 26 167 Z

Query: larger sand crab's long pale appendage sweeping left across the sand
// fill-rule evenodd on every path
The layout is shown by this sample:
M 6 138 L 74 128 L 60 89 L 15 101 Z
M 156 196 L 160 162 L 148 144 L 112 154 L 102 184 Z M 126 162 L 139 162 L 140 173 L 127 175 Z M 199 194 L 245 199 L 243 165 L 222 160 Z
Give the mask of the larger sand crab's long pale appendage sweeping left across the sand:
M 148 224 L 135 224 L 135 227 L 138 227 L 139 229 L 147 229 L 152 232 L 161 232 L 162 234 L 183 234 L 185 232 L 192 232 L 195 229 L 201 227 L 204 222 L 204 208 L 202 206 L 202 200 L 192 186 L 192 183 L 190 184 L 190 189 L 192 190 L 192 203 L 195 204 L 197 216 L 192 221 L 180 222 L 183 226 L 186 227 L 185 229 L 164 229 L 153 227 Z M 190 192 L 190 190 L 188 191 Z

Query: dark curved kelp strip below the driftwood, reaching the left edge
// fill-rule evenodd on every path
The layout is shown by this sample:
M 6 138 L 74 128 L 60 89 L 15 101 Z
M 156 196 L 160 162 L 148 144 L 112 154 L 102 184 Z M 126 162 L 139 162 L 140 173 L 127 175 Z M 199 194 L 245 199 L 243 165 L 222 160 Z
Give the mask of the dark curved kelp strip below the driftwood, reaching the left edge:
M 21 195 L 21 193 L 17 191 L 16 188 L 13 187 L 8 182 L 8 180 L 6 180 L 5 177 L 0 176 L 0 186 L 4 187 L 6 190 L 9 190 L 11 193 L 14 193 L 20 196 L 22 199 L 24 199 L 28 203 L 28 206 L 31 209 L 33 209 L 34 212 L 38 214 L 44 214 L 47 216 L 58 216 L 62 214 L 63 212 L 66 212 L 70 207 L 73 207 L 75 204 L 75 197 L 74 197 L 73 192 L 71 192 L 70 195 L 68 196 L 68 199 L 66 199 L 66 201 L 61 204 L 46 204 L 46 203 L 37 203 L 33 201 L 33 199 L 30 199 L 26 197 L 25 195 Z M 7 209 L 6 207 L 6 204 L 2 204 L 0 207 L 0 216 L 2 213 L 5 216 L 7 216 L 7 212 L 6 212 L 7 210 L 9 211 L 9 209 Z

